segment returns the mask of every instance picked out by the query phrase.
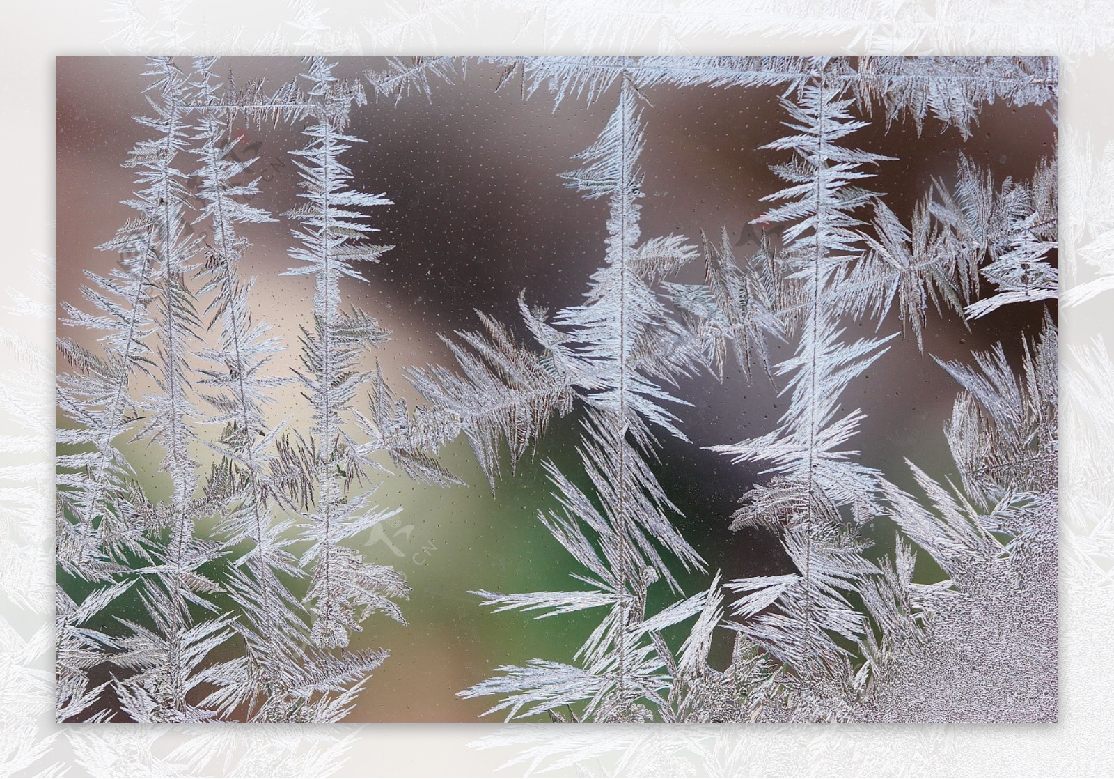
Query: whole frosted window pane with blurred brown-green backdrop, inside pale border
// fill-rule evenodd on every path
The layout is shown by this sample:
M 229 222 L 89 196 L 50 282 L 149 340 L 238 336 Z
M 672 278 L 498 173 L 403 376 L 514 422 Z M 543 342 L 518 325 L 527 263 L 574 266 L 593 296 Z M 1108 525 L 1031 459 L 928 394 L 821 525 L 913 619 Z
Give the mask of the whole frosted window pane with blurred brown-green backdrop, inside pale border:
M 473 721 L 518 694 L 478 694 L 502 666 L 532 687 L 488 719 L 1056 719 L 1054 59 L 203 65 L 58 59 L 60 613 L 117 585 L 61 621 L 63 719 Z M 323 127 L 359 142 L 292 154 Z M 305 197 L 338 164 L 351 181 Z M 212 186 L 273 221 L 222 217 Z M 123 254 L 96 250 L 128 220 Z M 370 245 L 390 249 L 351 254 Z M 353 275 L 326 279 L 338 262 Z M 107 293 L 88 275 L 114 271 Z M 226 303 L 248 280 L 242 312 L 282 349 L 245 413 L 229 356 L 262 337 Z M 475 386 L 433 397 L 414 371 L 436 370 Z M 297 464 L 305 502 L 275 477 Z M 260 574 L 265 532 L 290 556 Z M 346 627 L 321 625 L 326 559 L 383 566 L 325 585 L 351 585 Z M 567 591 L 596 600 L 482 604 Z M 159 658 L 209 629 L 188 671 Z

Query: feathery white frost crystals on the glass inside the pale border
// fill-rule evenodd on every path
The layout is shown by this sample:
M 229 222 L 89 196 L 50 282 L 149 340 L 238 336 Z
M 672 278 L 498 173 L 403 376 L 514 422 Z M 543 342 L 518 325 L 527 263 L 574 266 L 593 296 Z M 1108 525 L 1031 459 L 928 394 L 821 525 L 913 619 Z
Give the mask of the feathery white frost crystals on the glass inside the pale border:
M 965 152 L 990 104 L 1055 121 L 1054 59 L 430 57 L 359 78 L 338 67 L 307 58 L 271 90 L 219 76 L 213 58 L 147 61 L 153 113 L 136 118 L 144 138 L 124 163 L 134 214 L 102 246 L 118 261 L 86 272 L 80 305 L 62 303 L 97 348 L 58 344 L 59 719 L 349 715 L 391 668 L 390 647 L 351 649 L 351 636 L 403 622 L 409 593 L 361 552 L 365 532 L 407 510 L 377 506 L 375 486 L 393 468 L 458 488 L 443 454 L 462 439 L 496 494 L 508 462 L 547 475 L 551 496 L 516 520 L 548 530 L 575 584 L 461 582 L 458 595 L 476 598 L 461 607 L 477 621 L 483 606 L 527 612 L 545 617 L 539 631 L 578 612 L 593 625 L 570 656 L 470 681 L 459 694 L 490 700 L 488 713 L 1055 720 L 1056 159 L 1046 150 L 1018 178 Z M 369 100 L 436 104 L 469 68 L 524 101 L 607 108 L 571 169 L 554 172 L 606 204 L 600 261 L 578 304 L 551 310 L 527 289 L 517 321 L 481 311 L 479 330 L 446 338 L 455 364 L 408 371 L 408 402 L 375 367 L 391 333 L 344 300 L 342 282 L 365 282 L 392 249 L 372 237 L 391 193 L 371 194 L 345 159 L 373 135 L 353 119 Z M 779 96 L 782 135 L 747 149 L 782 182 L 747 215 L 753 251 L 720 224 L 644 235 L 653 96 L 676 89 Z M 287 150 L 297 205 L 272 214 L 254 205 L 262 179 L 237 156 L 236 128 L 280 124 L 304 146 Z M 911 204 L 871 186 L 898 155 L 857 145 L 899 126 L 954 149 L 951 172 Z M 285 274 L 312 298 L 296 344 L 253 304 L 243 225 L 289 236 Z M 929 334 L 945 319 L 1016 335 L 941 358 Z M 935 476 L 910 459 L 881 466 L 857 442 L 871 397 L 853 408 L 849 390 L 900 342 L 954 398 L 939 420 L 954 461 Z M 299 368 L 283 374 L 274 358 L 289 349 Z M 710 376 L 775 388 L 780 418 L 692 440 L 686 391 Z M 273 421 L 287 384 L 307 405 L 304 429 Z M 578 430 L 575 464 L 531 455 L 558 417 Z M 775 538 L 783 573 L 731 577 L 707 562 L 663 486 L 666 438 L 739 466 L 737 510 L 701 520 Z M 162 454 L 168 496 L 138 478 L 136 442 Z

